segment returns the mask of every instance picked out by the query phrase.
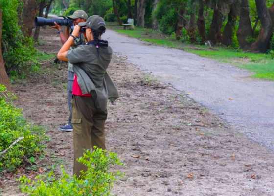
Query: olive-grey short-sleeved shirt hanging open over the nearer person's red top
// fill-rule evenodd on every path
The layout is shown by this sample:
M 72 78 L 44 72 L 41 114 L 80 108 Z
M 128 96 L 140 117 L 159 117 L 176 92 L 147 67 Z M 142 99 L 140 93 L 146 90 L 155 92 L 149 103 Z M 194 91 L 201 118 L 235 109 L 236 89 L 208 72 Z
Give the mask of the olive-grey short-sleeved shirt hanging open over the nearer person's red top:
M 106 72 L 112 58 L 109 46 L 96 47 L 89 42 L 76 49 L 68 50 L 67 58 L 73 64 L 73 71 L 83 94 L 89 93 L 99 111 L 107 109 L 108 99 L 114 104 L 118 91 Z

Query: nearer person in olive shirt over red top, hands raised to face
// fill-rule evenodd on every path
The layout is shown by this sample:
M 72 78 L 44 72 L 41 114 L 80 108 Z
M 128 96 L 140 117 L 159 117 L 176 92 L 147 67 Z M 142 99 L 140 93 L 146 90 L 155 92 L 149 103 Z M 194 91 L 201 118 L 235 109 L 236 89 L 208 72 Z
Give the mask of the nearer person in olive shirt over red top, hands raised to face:
M 80 27 L 85 31 L 88 42 L 76 49 L 70 45 L 79 36 Z M 94 15 L 86 23 L 79 23 L 68 41 L 58 53 L 58 58 L 73 64 L 75 80 L 73 82 L 72 124 L 74 165 L 73 174 L 77 177 L 87 168 L 77 159 L 83 156 L 85 149 L 91 146 L 105 149 L 105 121 L 107 119 L 107 101 L 112 103 L 118 98 L 118 92 L 106 72 L 112 58 L 112 49 L 108 41 L 101 40 L 106 30 L 102 17 Z

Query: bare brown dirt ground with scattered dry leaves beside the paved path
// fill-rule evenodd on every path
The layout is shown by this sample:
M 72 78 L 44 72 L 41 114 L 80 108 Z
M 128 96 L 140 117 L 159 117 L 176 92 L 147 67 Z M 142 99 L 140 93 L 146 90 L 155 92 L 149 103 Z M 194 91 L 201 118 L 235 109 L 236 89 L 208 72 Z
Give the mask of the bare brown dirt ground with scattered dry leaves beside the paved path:
M 61 47 L 51 29 L 41 29 L 49 54 Z M 16 106 L 25 117 L 46 127 L 51 138 L 41 167 L 57 163 L 72 173 L 72 133 L 58 129 L 67 122 L 67 67 L 46 63 L 41 75 L 13 84 Z M 274 154 L 233 130 L 208 109 L 160 84 L 114 56 L 108 73 L 120 98 L 109 103 L 106 146 L 126 167 L 114 184 L 120 196 L 273 196 Z M 63 155 L 63 156 L 62 156 Z M 140 156 L 133 158 L 132 156 Z M 21 195 L 17 183 L 4 181 L 2 195 Z

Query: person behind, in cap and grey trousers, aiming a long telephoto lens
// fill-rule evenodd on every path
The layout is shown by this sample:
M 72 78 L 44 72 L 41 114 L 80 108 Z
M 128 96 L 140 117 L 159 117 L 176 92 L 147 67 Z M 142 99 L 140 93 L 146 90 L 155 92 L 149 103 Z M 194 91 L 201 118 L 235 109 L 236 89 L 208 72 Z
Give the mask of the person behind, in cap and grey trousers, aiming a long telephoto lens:
M 85 22 L 88 18 L 88 15 L 85 11 L 83 10 L 76 10 L 71 16 L 68 16 L 68 18 L 73 20 L 73 25 L 76 26 L 78 23 Z M 69 38 L 69 27 L 66 27 L 66 33 L 64 34 L 63 31 L 61 30 L 61 27 L 57 25 L 56 22 L 54 22 L 55 26 L 50 26 L 51 28 L 55 28 L 58 31 L 58 34 L 60 36 L 62 44 L 65 44 L 65 42 Z M 77 46 L 85 43 L 85 37 L 83 34 L 80 34 L 79 36 L 76 37 L 76 39 L 71 43 L 71 49 L 76 48 Z M 68 91 L 68 108 L 70 111 L 70 115 L 68 117 L 68 124 L 65 126 L 60 126 L 59 129 L 63 131 L 72 131 L 72 123 L 71 123 L 71 118 L 72 118 L 72 107 L 71 107 L 71 98 L 72 98 L 72 85 L 74 81 L 74 73 L 72 69 L 72 64 L 68 62 L 68 82 L 67 82 L 67 91 Z

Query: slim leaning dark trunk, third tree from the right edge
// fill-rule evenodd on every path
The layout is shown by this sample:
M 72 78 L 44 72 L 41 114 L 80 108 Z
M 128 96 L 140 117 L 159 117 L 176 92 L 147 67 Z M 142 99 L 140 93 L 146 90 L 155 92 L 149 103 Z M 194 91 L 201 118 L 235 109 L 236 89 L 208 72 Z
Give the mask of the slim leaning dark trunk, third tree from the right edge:
M 228 22 L 222 35 L 222 43 L 226 46 L 231 46 L 233 44 L 233 35 L 238 17 L 238 7 L 239 5 L 237 1 L 232 3 L 230 6 L 230 12 L 228 13 Z

